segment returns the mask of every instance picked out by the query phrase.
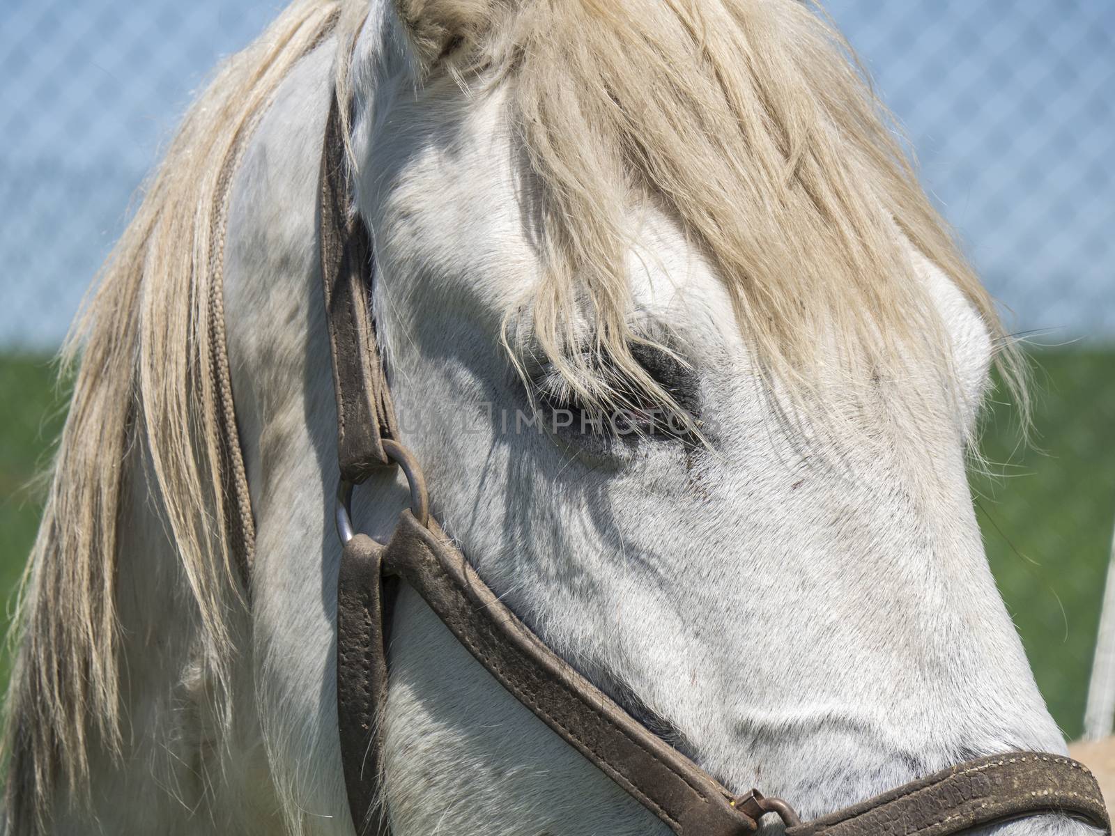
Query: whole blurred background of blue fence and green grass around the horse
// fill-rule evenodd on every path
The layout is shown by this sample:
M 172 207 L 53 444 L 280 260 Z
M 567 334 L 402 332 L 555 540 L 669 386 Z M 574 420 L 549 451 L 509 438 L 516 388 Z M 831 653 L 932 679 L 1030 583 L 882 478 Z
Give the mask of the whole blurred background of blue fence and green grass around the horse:
M 1082 731 L 1115 525 L 1115 3 L 831 0 L 924 182 L 1036 367 L 1035 444 L 992 404 L 972 474 L 991 567 L 1046 700 Z M 65 416 L 52 354 L 214 64 L 279 4 L 0 8 L 0 595 Z M 6 670 L 6 669 L 4 669 Z M 0 677 L 3 677 L 0 670 Z

